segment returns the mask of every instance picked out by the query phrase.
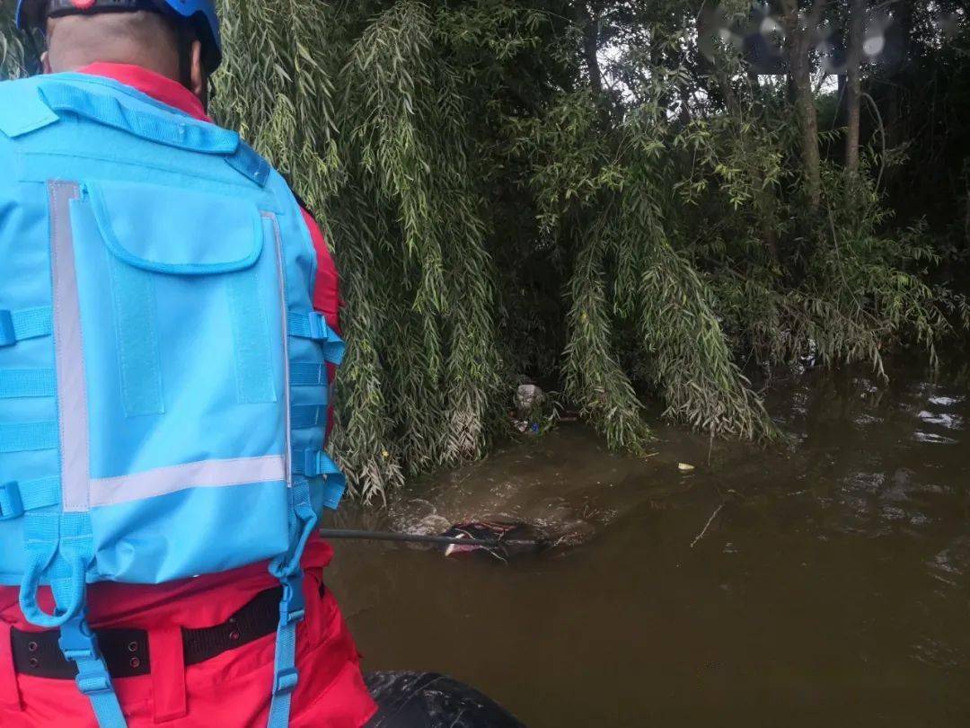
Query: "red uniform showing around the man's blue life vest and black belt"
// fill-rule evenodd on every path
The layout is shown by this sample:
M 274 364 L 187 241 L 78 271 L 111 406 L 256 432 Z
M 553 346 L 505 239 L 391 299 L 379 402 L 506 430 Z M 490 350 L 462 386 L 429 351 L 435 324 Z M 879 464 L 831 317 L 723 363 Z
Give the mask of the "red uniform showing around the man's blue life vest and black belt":
M 96 63 L 82 73 L 105 76 L 152 96 L 202 120 L 202 103 L 180 84 L 137 66 Z M 314 307 L 339 330 L 337 269 L 320 228 L 304 211 L 318 256 Z M 361 678 L 356 646 L 336 601 L 319 595 L 323 568 L 333 551 L 321 539 L 307 545 L 307 618 L 299 627 L 297 666 L 300 682 L 293 696 L 291 725 L 314 728 L 359 728 L 375 706 Z M 161 585 L 102 582 L 88 589 L 95 628 L 145 629 L 152 651 L 152 674 L 115 680 L 130 728 L 165 725 L 172 728 L 248 728 L 265 725 L 270 707 L 275 635 L 231 649 L 185 671 L 160 659 L 180 649 L 180 627 L 220 624 L 256 594 L 277 585 L 268 564 L 253 564 L 222 574 Z M 41 604 L 52 610 L 49 590 Z M 0 586 L 0 725 L 4 728 L 53 726 L 93 728 L 90 704 L 73 680 L 16 676 L 10 629 L 34 629 L 17 606 L 17 589 Z M 6 634 L 5 634 L 6 633 Z M 156 648 L 157 647 L 157 648 Z M 172 654 L 172 652 L 169 652 Z

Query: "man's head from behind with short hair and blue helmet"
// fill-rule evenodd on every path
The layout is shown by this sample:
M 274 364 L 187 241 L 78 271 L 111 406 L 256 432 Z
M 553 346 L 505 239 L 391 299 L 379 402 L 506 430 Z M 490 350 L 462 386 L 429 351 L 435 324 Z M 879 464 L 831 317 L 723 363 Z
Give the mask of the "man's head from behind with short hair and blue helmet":
M 128 63 L 183 83 L 204 102 L 221 60 L 214 0 L 19 0 L 17 23 L 45 30 L 47 73 Z

